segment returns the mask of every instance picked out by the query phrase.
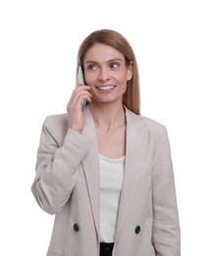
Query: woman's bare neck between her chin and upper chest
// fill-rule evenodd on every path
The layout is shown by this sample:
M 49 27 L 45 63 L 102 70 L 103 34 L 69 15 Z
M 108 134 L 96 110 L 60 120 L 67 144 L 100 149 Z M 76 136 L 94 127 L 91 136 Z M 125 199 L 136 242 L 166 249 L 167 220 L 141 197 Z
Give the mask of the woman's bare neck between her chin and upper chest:
M 94 120 L 95 128 L 101 132 L 112 132 L 114 129 L 126 125 L 126 116 L 123 104 L 90 103 L 90 111 Z

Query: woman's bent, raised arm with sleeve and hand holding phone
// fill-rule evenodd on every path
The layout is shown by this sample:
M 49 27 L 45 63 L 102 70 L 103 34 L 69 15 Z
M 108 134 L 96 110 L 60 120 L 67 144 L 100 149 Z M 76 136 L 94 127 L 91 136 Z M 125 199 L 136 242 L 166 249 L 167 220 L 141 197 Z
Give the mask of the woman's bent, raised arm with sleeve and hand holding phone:
M 58 213 L 70 198 L 80 162 L 91 144 L 81 135 L 85 125 L 81 102 L 91 101 L 89 89 L 80 86 L 74 90 L 67 105 L 67 128 L 59 116 L 49 116 L 43 124 L 31 191 L 38 205 L 49 214 Z M 67 134 L 63 129 L 67 129 Z

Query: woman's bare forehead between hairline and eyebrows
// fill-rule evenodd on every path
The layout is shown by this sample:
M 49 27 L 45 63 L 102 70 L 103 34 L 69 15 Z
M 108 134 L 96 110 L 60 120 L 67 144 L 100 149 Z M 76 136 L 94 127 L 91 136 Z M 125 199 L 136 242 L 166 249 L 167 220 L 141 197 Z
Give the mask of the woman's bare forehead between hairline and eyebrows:
M 86 61 L 96 61 L 102 62 L 111 59 L 121 59 L 125 61 L 125 56 L 115 48 L 103 44 L 95 43 L 91 48 L 89 48 L 84 56 L 84 62 Z

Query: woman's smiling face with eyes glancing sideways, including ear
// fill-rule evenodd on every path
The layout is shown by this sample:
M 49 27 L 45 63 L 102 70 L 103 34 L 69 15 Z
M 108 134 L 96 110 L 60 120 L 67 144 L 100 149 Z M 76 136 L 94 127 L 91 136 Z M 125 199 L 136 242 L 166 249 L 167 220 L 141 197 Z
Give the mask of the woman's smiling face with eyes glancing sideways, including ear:
M 122 103 L 127 81 L 132 79 L 132 65 L 126 65 L 121 52 L 109 45 L 95 43 L 86 52 L 83 67 L 92 101 Z

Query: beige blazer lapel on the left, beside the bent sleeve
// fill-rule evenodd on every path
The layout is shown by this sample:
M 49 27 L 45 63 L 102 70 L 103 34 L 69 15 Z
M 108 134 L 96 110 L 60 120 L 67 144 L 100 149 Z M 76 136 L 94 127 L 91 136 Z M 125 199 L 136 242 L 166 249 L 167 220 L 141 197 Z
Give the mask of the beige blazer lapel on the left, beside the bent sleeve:
M 92 144 L 87 152 L 85 158 L 82 160 L 82 167 L 87 184 L 91 210 L 93 213 L 94 224 L 96 226 L 99 237 L 99 159 L 98 147 L 95 134 L 95 128 L 89 107 L 84 109 L 86 124 L 82 135 L 86 136 L 92 141 Z

